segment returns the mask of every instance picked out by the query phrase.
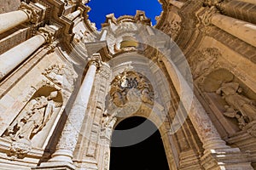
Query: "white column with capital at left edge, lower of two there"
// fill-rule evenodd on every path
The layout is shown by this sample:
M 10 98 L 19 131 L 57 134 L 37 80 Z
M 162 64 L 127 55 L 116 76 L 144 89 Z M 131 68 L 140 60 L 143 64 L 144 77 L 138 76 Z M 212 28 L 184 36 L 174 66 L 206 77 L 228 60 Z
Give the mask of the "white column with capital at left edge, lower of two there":
M 10 71 L 20 65 L 22 61 L 28 58 L 45 42 L 49 42 L 53 33 L 46 28 L 41 27 L 38 30 L 38 35 L 31 37 L 25 42 L 9 49 L 7 52 L 0 55 L 0 80 L 9 74 Z

